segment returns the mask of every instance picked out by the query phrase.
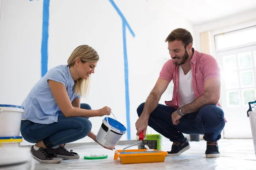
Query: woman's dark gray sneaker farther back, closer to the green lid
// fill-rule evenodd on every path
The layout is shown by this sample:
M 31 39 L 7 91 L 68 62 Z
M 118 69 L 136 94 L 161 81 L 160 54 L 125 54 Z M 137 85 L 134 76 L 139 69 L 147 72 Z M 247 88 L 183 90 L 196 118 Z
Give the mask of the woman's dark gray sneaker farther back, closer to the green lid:
M 65 148 L 65 144 L 63 146 L 59 146 L 57 149 L 49 148 L 49 150 L 51 151 L 51 153 L 54 153 L 57 156 L 57 158 L 61 158 L 65 160 L 80 158 L 79 154 L 73 152 L 73 150 L 68 151 Z

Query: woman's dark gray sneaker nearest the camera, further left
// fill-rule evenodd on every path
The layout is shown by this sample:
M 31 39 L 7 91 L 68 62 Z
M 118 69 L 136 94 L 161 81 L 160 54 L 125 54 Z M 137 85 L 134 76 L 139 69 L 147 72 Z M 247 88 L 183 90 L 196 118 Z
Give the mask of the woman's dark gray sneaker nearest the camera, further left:
M 31 153 L 32 157 L 41 164 L 61 163 L 61 159 L 57 158 L 53 153 L 51 153 L 48 148 L 40 147 L 38 150 L 35 150 L 32 146 Z

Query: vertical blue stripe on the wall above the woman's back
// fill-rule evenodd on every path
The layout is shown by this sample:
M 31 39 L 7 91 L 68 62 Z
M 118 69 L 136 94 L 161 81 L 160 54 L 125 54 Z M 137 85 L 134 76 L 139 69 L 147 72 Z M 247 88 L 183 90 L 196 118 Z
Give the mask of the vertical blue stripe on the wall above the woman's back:
M 41 43 L 41 77 L 43 77 L 48 70 L 49 5 L 50 0 L 44 0 Z

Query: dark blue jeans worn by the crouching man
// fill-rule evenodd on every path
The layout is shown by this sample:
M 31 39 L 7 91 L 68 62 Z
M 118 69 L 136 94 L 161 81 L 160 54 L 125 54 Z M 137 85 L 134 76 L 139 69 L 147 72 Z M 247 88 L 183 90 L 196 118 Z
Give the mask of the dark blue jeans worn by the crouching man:
M 145 103 L 137 108 L 140 117 Z M 148 119 L 148 126 L 172 142 L 186 140 L 182 133 L 204 135 L 205 141 L 218 141 L 225 126 L 224 112 L 217 105 L 205 105 L 198 112 L 188 113 L 181 117 L 178 125 L 172 124 L 172 113 L 177 109 L 158 104 Z

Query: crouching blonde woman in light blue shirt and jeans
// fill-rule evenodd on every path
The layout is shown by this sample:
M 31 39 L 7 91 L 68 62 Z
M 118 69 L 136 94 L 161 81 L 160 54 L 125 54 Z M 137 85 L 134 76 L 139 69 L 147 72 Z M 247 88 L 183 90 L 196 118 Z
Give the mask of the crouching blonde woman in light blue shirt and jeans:
M 97 142 L 88 118 L 110 115 L 111 108 L 91 110 L 90 105 L 80 104 L 80 99 L 88 92 L 90 75 L 98 61 L 99 55 L 93 48 L 77 47 L 67 65 L 50 69 L 23 101 L 25 113 L 20 132 L 23 139 L 36 143 L 31 152 L 40 163 L 79 159 L 77 153 L 65 149 L 66 143 L 85 136 Z

